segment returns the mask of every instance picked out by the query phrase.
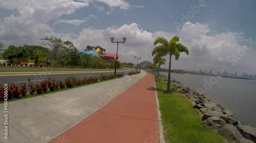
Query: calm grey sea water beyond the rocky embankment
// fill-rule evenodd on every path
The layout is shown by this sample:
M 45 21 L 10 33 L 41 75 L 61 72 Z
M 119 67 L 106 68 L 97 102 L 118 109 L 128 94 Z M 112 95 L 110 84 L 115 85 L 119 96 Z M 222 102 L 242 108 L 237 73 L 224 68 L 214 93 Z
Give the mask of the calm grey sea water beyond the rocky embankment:
M 160 72 L 168 75 L 167 72 Z M 172 78 L 191 90 L 206 89 L 207 99 L 230 109 L 240 122 L 256 127 L 256 80 L 226 78 L 214 80 L 211 76 L 171 73 Z M 212 80 L 212 87 L 204 84 Z

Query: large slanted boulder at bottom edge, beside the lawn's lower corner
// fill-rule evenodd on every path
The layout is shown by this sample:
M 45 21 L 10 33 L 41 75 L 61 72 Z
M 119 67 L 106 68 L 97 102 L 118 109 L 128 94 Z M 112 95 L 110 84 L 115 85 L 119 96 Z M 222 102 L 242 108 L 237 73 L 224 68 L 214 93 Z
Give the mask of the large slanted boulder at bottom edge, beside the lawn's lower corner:
M 252 140 L 244 138 L 236 127 L 229 124 L 225 124 L 219 130 L 219 133 L 223 135 L 229 142 L 232 143 L 253 143 Z

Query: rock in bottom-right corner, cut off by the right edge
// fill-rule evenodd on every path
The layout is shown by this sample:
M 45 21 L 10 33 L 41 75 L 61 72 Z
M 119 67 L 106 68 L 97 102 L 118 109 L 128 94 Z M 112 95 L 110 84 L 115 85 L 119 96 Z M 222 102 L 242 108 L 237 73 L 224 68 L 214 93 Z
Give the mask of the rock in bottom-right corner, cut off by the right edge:
M 256 142 L 256 128 L 246 125 L 238 125 L 237 129 L 243 135 L 243 137 Z

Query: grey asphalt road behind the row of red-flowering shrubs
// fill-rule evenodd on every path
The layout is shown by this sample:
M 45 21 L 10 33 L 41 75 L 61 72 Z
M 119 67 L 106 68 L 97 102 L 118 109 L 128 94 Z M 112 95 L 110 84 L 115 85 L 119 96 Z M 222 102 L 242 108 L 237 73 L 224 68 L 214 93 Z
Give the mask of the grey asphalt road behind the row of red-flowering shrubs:
M 117 73 L 122 73 L 118 72 Z M 127 75 L 128 72 L 123 72 L 124 75 Z M 34 83 L 40 82 L 42 80 L 45 80 L 49 77 L 55 80 L 61 80 L 65 81 L 66 78 L 69 76 L 74 76 L 77 79 L 82 79 L 84 77 L 90 77 L 90 76 L 100 76 L 100 74 L 114 74 L 114 72 L 85 72 L 85 73 L 51 73 L 51 74 L 34 74 L 34 75 L 8 75 L 8 76 L 2 76 L 0 75 L 0 83 L 3 85 L 4 83 L 12 84 L 15 83 L 17 85 L 20 85 L 21 83 L 28 83 L 28 79 L 30 78 L 31 81 Z

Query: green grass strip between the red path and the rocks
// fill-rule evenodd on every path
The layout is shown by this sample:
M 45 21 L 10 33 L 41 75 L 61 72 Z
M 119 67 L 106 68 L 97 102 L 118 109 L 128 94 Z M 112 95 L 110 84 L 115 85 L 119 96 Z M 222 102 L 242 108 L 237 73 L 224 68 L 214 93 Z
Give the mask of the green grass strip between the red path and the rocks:
M 166 142 L 224 142 L 224 139 L 201 124 L 201 116 L 189 100 L 174 90 L 166 93 L 164 79 L 156 81 L 158 100 Z

